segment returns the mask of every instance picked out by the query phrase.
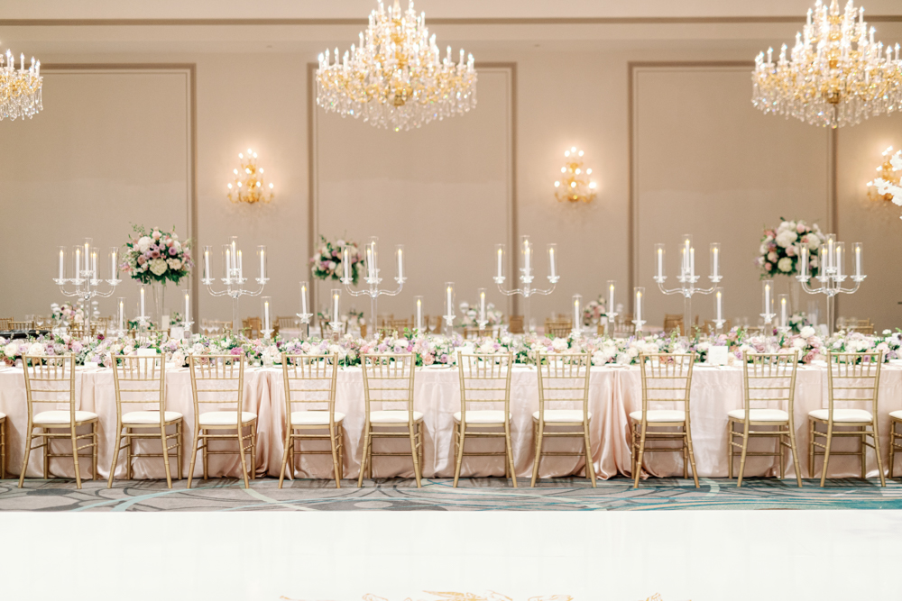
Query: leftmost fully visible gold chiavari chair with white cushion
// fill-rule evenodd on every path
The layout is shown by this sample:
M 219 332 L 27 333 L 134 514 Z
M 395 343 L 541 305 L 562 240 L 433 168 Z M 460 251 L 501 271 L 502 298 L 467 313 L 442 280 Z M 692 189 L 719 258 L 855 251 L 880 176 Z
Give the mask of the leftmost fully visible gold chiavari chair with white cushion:
M 54 457 L 71 457 L 75 463 L 75 482 L 81 488 L 81 468 L 78 458 L 91 459 L 92 478 L 97 478 L 97 414 L 90 411 L 78 411 L 75 408 L 75 355 L 45 357 L 24 355 L 22 367 L 25 374 L 25 396 L 28 401 L 28 425 L 25 430 L 25 456 L 22 460 L 22 471 L 19 473 L 19 487 L 25 481 L 25 470 L 32 451 L 44 450 L 44 479 L 50 478 L 50 460 Z M 51 409 L 34 413 L 35 405 L 66 405 L 65 409 Z M 90 425 L 91 432 L 79 434 L 78 427 Z M 41 432 L 34 432 L 35 428 Z M 52 430 L 69 430 L 68 433 L 53 433 Z M 32 448 L 32 440 L 38 438 L 43 442 Z M 51 452 L 51 441 L 67 438 L 72 442 L 72 452 Z M 90 442 L 78 445 L 79 441 L 90 439 Z M 91 449 L 90 454 L 78 451 Z

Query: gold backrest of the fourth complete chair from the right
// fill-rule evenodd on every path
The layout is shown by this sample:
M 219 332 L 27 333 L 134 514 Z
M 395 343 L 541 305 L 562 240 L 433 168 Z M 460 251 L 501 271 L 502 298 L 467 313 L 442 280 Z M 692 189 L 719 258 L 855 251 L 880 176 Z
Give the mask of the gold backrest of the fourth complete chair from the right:
M 588 423 L 591 368 L 588 353 L 538 353 L 539 422 L 545 422 L 548 409 L 574 409 L 579 405 L 583 422 Z

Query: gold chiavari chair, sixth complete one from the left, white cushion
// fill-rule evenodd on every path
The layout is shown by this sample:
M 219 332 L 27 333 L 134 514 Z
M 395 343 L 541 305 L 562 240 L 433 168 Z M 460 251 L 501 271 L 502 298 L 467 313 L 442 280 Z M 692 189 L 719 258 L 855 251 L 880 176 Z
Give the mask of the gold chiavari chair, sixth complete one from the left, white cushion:
M 476 355 L 457 351 L 460 374 L 460 411 L 454 414 L 455 469 L 454 486 L 460 479 L 460 467 L 465 456 L 504 457 L 504 478 L 513 478 L 517 487 L 517 472 L 513 469 L 511 447 L 511 367 L 513 354 Z M 472 409 L 503 405 L 498 409 Z M 498 429 L 502 432 L 498 432 Z M 491 432 L 491 431 L 494 432 Z M 502 452 L 465 452 L 467 438 L 504 438 Z

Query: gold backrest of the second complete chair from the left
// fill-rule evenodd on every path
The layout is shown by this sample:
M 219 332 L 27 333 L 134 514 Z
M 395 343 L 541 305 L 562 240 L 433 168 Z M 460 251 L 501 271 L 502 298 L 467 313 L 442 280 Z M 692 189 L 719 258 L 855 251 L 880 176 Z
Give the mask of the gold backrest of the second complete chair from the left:
M 165 423 L 166 360 L 164 357 L 114 357 L 115 410 L 122 418 L 122 405 L 153 405 L 147 411 L 160 413 Z

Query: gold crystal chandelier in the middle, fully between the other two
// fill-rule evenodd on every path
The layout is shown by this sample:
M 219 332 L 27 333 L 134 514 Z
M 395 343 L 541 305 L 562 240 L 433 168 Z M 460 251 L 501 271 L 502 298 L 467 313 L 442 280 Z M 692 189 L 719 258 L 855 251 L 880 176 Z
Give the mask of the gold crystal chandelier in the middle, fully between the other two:
M 380 2 L 358 46 L 319 55 L 317 105 L 395 132 L 464 114 L 476 105 L 473 55 L 464 62 L 460 50 L 455 63 L 448 46 L 441 59 L 413 0 L 404 13 L 398 0 L 388 11 Z

